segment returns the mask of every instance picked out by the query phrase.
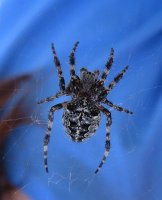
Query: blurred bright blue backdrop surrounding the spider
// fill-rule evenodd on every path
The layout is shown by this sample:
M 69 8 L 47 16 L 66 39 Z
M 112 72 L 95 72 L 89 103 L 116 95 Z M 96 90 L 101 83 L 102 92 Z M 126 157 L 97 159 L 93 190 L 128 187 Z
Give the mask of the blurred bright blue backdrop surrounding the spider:
M 0 1 L 0 78 L 26 73 L 25 84 L 4 112 L 23 99 L 31 106 L 31 123 L 10 131 L 3 159 L 14 185 L 34 200 L 161 200 L 162 199 L 162 2 L 157 1 Z M 65 99 L 37 105 L 59 90 L 50 44 L 55 43 L 66 83 L 69 54 L 81 67 L 102 71 L 110 48 L 115 61 L 106 85 L 124 66 L 129 70 L 109 100 L 134 112 L 112 110 L 111 151 L 94 175 L 104 153 L 106 119 L 95 136 L 74 143 L 55 114 L 49 144 L 49 174 L 43 166 L 43 137 L 50 107 Z M 16 90 L 16 83 L 15 83 Z M 25 118 L 26 116 L 24 116 Z

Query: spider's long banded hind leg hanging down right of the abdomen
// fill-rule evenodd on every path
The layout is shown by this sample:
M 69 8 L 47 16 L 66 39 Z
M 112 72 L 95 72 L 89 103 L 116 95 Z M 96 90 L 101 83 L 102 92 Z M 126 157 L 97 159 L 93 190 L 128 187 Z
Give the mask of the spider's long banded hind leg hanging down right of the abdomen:
M 104 162 L 106 161 L 106 158 L 109 154 L 109 151 L 110 151 L 110 127 L 111 127 L 111 124 L 112 124 L 112 118 L 111 118 L 111 113 L 106 109 L 104 108 L 103 106 L 97 106 L 98 109 L 103 112 L 106 117 L 107 117 L 107 123 L 106 123 L 106 143 L 105 143 L 105 152 L 104 152 L 104 156 L 102 158 L 102 161 L 100 162 L 98 168 L 96 169 L 95 171 L 95 174 L 98 173 L 98 171 L 101 169 L 102 165 L 104 164 Z

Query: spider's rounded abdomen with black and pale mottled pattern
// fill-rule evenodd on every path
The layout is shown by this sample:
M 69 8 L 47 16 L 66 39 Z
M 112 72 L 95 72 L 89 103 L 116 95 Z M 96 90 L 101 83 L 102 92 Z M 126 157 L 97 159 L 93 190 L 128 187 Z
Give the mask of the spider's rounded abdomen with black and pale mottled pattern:
M 74 142 L 82 142 L 91 137 L 100 122 L 100 112 L 85 101 L 70 103 L 63 113 L 63 125 Z

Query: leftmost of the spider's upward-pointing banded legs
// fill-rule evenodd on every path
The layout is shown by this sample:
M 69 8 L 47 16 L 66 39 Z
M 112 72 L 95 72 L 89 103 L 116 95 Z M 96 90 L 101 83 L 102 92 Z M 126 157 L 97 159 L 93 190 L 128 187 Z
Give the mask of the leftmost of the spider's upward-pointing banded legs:
M 60 61 L 56 55 L 56 51 L 54 48 L 54 44 L 51 44 L 51 48 L 52 48 L 52 53 L 53 53 L 53 57 L 54 57 L 54 63 L 56 65 L 56 69 L 57 69 L 57 73 L 59 76 L 59 86 L 60 86 L 60 90 L 64 91 L 65 90 L 65 80 L 64 80 L 64 76 L 62 73 L 62 69 L 61 69 L 61 65 L 60 65 Z

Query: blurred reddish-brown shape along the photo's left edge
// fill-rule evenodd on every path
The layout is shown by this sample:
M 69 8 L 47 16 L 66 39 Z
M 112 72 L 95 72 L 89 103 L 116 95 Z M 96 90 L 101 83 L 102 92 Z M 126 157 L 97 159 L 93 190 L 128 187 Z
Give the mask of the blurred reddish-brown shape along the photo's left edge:
M 25 83 L 30 83 L 32 76 L 22 75 L 10 80 L 0 81 L 0 110 L 4 110 L 4 106 L 14 96 L 16 96 Z M 26 98 L 26 91 L 14 104 L 14 106 L 1 116 L 0 121 L 0 153 L 3 155 L 3 146 L 5 138 L 11 130 L 19 125 L 30 123 L 31 119 L 28 117 L 31 114 L 31 106 L 27 107 L 23 102 Z M 7 180 L 3 169 L 3 160 L 1 158 L 0 165 L 0 200 L 29 200 L 18 188 L 12 186 Z

